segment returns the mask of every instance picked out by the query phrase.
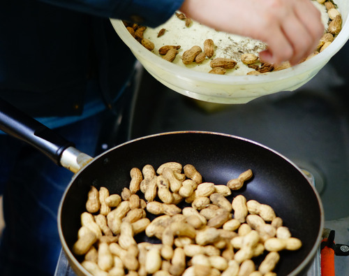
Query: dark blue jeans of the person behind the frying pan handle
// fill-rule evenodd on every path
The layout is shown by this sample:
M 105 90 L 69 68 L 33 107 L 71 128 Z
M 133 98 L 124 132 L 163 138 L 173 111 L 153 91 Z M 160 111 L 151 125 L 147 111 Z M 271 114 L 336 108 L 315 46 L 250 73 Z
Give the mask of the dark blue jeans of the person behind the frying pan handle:
M 94 156 L 103 116 L 57 132 Z M 0 246 L 0 275 L 53 275 L 61 244 L 57 211 L 73 173 L 15 138 L 0 136 L 0 175 L 6 228 Z

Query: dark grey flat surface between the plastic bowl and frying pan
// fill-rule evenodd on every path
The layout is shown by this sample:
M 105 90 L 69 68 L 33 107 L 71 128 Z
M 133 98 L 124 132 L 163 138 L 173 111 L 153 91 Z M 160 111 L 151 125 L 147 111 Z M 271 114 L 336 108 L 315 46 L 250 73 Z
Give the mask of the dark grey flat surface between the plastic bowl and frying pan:
M 348 45 L 310 82 L 294 92 L 242 105 L 189 99 L 144 71 L 132 138 L 165 131 L 216 131 L 271 147 L 315 178 L 325 219 L 349 216 Z

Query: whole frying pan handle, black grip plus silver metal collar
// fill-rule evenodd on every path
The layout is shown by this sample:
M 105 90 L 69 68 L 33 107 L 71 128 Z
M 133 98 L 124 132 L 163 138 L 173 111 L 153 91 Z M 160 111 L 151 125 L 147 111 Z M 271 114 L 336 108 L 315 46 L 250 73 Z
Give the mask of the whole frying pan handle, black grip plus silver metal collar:
M 55 164 L 73 173 L 91 160 L 87 154 L 76 150 L 73 143 L 3 99 L 0 99 L 0 130 L 36 147 Z

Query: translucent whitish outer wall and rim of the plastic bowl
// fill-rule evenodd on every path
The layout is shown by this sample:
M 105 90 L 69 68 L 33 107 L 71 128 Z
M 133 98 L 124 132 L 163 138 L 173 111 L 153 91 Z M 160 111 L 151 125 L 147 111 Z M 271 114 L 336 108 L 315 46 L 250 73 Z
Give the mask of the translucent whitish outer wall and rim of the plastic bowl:
M 334 42 L 319 55 L 297 66 L 261 75 L 215 75 L 193 71 L 165 61 L 144 48 L 121 20 L 111 20 L 120 38 L 142 66 L 166 87 L 193 99 L 212 103 L 247 103 L 259 96 L 293 91 L 309 82 L 349 39 L 349 1 L 335 0 L 343 26 Z

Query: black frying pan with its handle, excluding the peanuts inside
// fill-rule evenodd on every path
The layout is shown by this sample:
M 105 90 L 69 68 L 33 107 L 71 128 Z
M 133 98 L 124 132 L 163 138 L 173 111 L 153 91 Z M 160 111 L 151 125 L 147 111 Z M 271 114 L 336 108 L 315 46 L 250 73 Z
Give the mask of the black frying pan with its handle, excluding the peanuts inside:
M 324 224 L 320 196 L 302 170 L 269 147 L 224 133 L 176 131 L 131 140 L 92 158 L 3 101 L 0 110 L 1 130 L 30 143 L 59 166 L 75 172 L 61 199 L 58 227 L 62 247 L 77 275 L 90 275 L 70 249 L 77 240 L 80 214 L 85 211 L 91 185 L 97 189 L 107 187 L 111 194 L 119 194 L 128 187 L 131 168 L 142 168 L 145 164 L 157 168 L 168 161 L 193 164 L 204 181 L 215 184 L 226 184 L 244 170 L 253 170 L 253 178 L 243 189 L 233 191 L 230 200 L 243 194 L 247 200 L 271 205 L 292 236 L 303 242 L 295 252 L 281 252 L 275 270 L 278 275 L 306 274 L 318 252 Z M 140 234 L 136 238 L 156 242 Z

